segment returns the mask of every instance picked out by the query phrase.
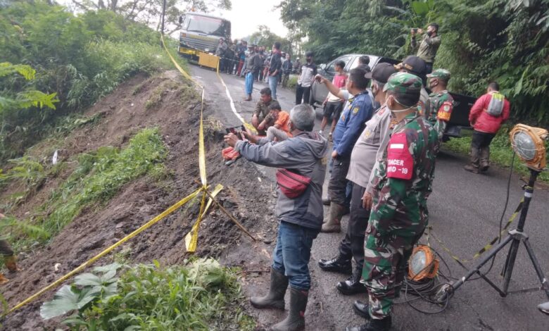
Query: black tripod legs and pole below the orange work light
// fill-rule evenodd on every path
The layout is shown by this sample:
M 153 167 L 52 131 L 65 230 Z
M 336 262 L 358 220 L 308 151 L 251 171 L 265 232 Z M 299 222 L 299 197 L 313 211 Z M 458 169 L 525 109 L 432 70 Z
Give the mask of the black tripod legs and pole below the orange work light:
M 503 240 L 503 242 L 500 242 L 497 246 L 493 248 L 493 250 L 485 256 L 477 266 L 475 266 L 472 270 L 465 275 L 465 277 L 460 278 L 457 282 L 451 285 L 447 285 L 445 287 L 442 287 L 441 290 L 438 292 L 438 301 L 442 302 L 445 299 L 447 299 L 448 294 L 451 294 L 456 289 L 458 289 L 461 285 L 463 285 L 472 275 L 475 273 L 478 274 L 483 280 L 486 280 L 488 284 L 496 289 L 496 291 L 500 294 L 500 296 L 507 296 L 509 292 L 507 292 L 507 289 L 509 288 L 509 282 L 511 280 L 511 275 L 513 273 L 513 268 L 515 267 L 515 260 L 517 258 L 517 252 L 519 251 L 519 244 L 522 242 L 524 246 L 526 247 L 526 251 L 528 251 L 528 255 L 530 257 L 530 260 L 532 261 L 532 264 L 534 264 L 534 269 L 536 269 L 536 273 L 538 274 L 538 278 L 541 282 L 541 288 L 545 291 L 545 295 L 549 298 L 549 284 L 548 280 L 543 275 L 543 271 L 541 270 L 541 267 L 539 266 L 538 259 L 536 258 L 536 255 L 534 255 L 534 251 L 532 250 L 532 247 L 530 246 L 530 242 L 528 240 L 528 235 L 524 233 L 524 223 L 526 223 L 526 215 L 528 214 L 528 208 L 530 205 L 530 201 L 532 199 L 532 195 L 534 193 L 534 183 L 536 182 L 536 178 L 538 177 L 539 173 L 541 171 L 530 169 L 530 179 L 528 182 L 528 185 L 524 185 L 524 204 L 522 207 L 522 211 L 520 213 L 519 218 L 519 225 L 517 225 L 517 230 L 510 230 L 509 235 Z M 494 284 L 486 275 L 482 274 L 480 272 L 480 268 L 484 266 L 488 261 L 491 260 L 491 258 L 495 257 L 496 254 L 499 253 L 500 250 L 502 250 L 507 244 L 511 244 L 509 253 L 507 254 L 507 258 L 505 260 L 505 266 L 503 268 L 502 276 L 503 276 L 503 288 L 498 287 L 498 285 Z

